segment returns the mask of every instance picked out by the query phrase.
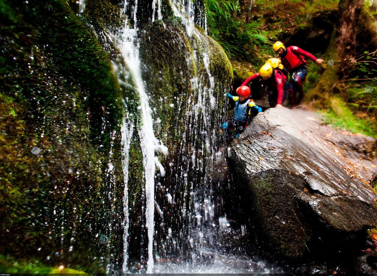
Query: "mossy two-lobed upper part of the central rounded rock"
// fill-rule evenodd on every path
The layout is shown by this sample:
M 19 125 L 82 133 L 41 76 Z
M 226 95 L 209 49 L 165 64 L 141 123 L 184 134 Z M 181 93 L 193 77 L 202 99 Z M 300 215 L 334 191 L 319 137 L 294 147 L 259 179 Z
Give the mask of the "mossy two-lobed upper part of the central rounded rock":
M 224 90 L 233 78 L 231 64 L 224 50 L 203 30 L 199 28 L 196 35 L 189 38 L 180 20 L 175 18 L 155 21 L 139 32 L 139 38 L 143 79 L 147 91 L 153 93 L 150 104 L 158 118 L 155 120 L 160 122 L 160 138 L 167 145 L 177 144 L 187 126 L 172 122 L 184 121 L 185 112 L 191 108 L 187 103 L 189 98 L 198 101 L 195 78 L 203 81 L 203 87 L 210 87 L 202 53 L 208 53 L 209 70 L 215 83 L 213 97 L 217 100 L 217 115 L 225 103 L 222 100 Z

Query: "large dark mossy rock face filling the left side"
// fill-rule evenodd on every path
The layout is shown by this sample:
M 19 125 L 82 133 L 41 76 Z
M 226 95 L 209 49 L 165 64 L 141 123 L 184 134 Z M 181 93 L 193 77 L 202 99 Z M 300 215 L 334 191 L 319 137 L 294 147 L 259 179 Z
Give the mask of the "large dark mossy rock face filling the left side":
M 135 97 L 65 1 L 1 5 L 1 253 L 104 271 L 121 246 L 122 99 Z

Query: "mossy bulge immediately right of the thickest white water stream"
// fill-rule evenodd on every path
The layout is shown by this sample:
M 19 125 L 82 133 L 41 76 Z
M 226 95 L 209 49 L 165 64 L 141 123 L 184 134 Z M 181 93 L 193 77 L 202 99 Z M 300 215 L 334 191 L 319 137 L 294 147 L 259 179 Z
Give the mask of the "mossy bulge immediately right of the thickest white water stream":
M 181 134 L 185 132 L 185 126 L 178 122 L 184 120 L 185 102 L 193 92 L 187 80 L 196 75 L 190 41 L 182 25 L 175 20 L 155 21 L 141 32 L 140 41 L 140 57 L 146 64 L 143 78 L 149 80 L 146 88 L 153 91 L 150 104 L 159 118 L 155 121 L 160 121 L 158 135 L 164 144 L 173 145 L 182 139 Z M 172 55 L 178 52 L 187 52 L 188 55 Z M 192 59 L 191 69 L 185 69 L 187 58 Z M 177 113 L 177 110 L 180 112 Z

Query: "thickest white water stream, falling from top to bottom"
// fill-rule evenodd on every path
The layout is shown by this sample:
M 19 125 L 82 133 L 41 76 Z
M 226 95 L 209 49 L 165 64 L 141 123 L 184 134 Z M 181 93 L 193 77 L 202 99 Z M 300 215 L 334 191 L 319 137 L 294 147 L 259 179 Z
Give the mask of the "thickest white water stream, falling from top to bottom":
M 124 10 L 126 10 L 127 1 L 124 3 Z M 135 6 L 136 12 L 137 2 Z M 136 15 L 133 14 L 134 28 L 129 28 L 127 20 L 122 30 L 120 41 L 120 51 L 125 63 L 127 64 L 136 89 L 139 94 L 141 117 L 139 122 L 139 137 L 141 142 L 141 150 L 143 152 L 143 166 L 146 190 L 146 228 L 148 235 L 148 261 L 147 273 L 152 273 L 153 270 L 153 232 L 154 232 L 154 212 L 155 212 L 155 169 L 156 158 L 155 151 L 158 150 L 167 154 L 167 147 L 165 147 L 156 137 L 153 132 L 152 110 L 149 106 L 149 97 L 144 87 L 144 82 L 141 78 L 140 60 L 139 60 L 139 42 L 136 29 Z M 158 161 L 158 159 L 157 159 Z M 162 167 L 162 166 L 161 166 Z M 160 168 L 161 172 L 162 169 Z M 123 267 L 127 264 L 123 264 Z

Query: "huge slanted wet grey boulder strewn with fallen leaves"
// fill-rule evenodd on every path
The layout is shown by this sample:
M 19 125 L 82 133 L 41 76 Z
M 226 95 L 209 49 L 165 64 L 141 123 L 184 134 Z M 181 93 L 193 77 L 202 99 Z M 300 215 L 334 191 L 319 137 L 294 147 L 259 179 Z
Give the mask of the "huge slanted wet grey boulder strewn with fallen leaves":
M 234 184 L 268 244 L 289 258 L 319 235 L 355 240 L 376 224 L 376 140 L 321 121 L 303 109 L 268 109 L 231 145 Z

